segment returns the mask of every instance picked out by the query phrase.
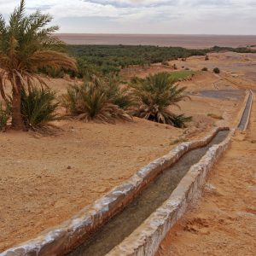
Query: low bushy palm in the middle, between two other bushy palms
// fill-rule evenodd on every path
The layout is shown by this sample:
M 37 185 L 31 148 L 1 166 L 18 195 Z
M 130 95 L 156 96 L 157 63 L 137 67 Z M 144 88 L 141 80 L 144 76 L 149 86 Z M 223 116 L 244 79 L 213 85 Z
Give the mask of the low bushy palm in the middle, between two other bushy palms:
M 62 96 L 62 104 L 67 108 L 68 113 L 83 119 L 85 122 L 94 120 L 102 123 L 115 123 L 116 119 L 131 121 L 130 114 L 119 108 L 113 102 L 125 108 L 129 103 L 120 95 L 120 90 L 115 89 L 96 77 L 81 85 L 71 85 L 67 94 Z

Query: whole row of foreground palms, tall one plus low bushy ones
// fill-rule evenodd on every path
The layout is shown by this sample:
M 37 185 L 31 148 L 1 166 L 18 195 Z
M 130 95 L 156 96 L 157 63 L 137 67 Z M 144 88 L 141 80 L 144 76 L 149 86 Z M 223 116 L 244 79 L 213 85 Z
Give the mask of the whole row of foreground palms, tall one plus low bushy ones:
M 76 61 L 61 52 L 63 44 L 52 33 L 57 26 L 48 26 L 52 17 L 39 11 L 25 15 L 25 1 L 10 15 L 9 22 L 0 15 L 0 129 L 11 119 L 15 130 L 47 125 L 59 118 L 59 102 L 67 114 L 84 121 L 114 123 L 116 119 L 131 121 L 132 116 L 183 127 L 189 117 L 177 115 L 170 106 L 183 100 L 185 88 L 179 88 L 170 73 L 149 75 L 146 79 L 131 79 L 121 84 L 118 77 L 96 76 L 84 84 L 72 85 L 67 93 L 56 98 L 40 68 L 76 70 Z M 11 84 L 11 96 L 5 88 Z

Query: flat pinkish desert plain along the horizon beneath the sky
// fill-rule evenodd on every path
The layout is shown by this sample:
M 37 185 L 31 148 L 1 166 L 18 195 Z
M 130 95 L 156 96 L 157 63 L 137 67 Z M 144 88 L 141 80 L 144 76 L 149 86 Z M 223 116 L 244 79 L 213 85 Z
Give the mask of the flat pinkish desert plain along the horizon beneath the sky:
M 149 34 L 56 34 L 67 44 L 125 44 L 210 48 L 215 45 L 247 47 L 256 45 L 256 36 L 149 35 Z

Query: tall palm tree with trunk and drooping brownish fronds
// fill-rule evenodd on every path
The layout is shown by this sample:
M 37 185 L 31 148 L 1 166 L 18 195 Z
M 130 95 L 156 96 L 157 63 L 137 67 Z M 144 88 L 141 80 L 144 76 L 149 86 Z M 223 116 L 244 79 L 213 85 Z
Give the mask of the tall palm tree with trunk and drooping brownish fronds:
M 9 23 L 0 15 L 0 93 L 6 98 L 3 87 L 6 80 L 12 85 L 12 126 L 24 128 L 22 119 L 21 90 L 31 90 L 35 84 L 46 85 L 38 69 L 53 67 L 76 70 L 76 62 L 61 53 L 61 41 L 52 37 L 58 26 L 48 26 L 50 15 L 40 11 L 25 14 L 25 0 L 9 17 Z

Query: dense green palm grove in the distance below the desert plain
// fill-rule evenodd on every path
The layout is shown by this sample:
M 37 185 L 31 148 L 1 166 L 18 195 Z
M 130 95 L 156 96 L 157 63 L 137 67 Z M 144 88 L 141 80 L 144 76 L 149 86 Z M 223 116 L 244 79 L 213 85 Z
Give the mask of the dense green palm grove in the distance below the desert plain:
M 68 45 L 67 50 L 76 57 L 79 66 L 79 72 L 70 74 L 79 78 L 119 73 L 131 65 L 148 66 L 158 62 L 166 65 L 167 61 L 177 58 L 207 53 L 207 49 L 142 45 Z

